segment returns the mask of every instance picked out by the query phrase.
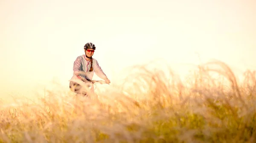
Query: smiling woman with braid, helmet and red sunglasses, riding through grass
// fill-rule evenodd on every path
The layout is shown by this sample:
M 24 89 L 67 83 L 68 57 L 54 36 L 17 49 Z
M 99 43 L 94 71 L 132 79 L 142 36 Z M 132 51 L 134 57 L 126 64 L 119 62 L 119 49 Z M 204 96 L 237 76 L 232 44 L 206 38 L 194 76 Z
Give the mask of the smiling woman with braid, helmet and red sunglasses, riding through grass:
M 70 79 L 70 90 L 74 93 L 87 95 L 87 92 L 82 91 L 82 86 L 79 82 L 75 82 L 77 79 L 86 79 L 85 83 L 93 82 L 93 74 L 96 73 L 101 79 L 104 79 L 107 84 L 110 84 L 110 80 L 102 71 L 99 63 L 96 59 L 93 59 L 93 54 L 96 47 L 93 43 L 89 42 L 84 45 L 84 55 L 78 56 L 73 65 L 73 77 Z M 81 82 L 81 81 L 80 81 Z M 87 87 L 90 87 L 88 85 Z

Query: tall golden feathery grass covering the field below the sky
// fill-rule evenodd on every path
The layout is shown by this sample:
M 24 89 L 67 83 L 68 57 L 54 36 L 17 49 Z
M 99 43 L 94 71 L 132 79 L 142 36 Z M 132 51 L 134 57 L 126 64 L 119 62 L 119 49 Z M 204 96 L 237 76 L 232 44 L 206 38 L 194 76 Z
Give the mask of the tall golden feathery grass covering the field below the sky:
M 209 62 L 182 82 L 172 70 L 134 69 L 92 98 L 49 91 L 40 103 L 1 107 L 0 142 L 256 142 L 255 72 L 239 83 L 226 64 Z

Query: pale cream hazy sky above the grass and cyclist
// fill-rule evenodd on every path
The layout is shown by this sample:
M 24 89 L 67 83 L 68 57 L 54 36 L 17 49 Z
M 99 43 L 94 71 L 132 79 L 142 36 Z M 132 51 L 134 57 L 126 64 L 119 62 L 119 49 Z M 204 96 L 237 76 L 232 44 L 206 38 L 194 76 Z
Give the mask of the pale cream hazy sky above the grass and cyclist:
M 195 53 L 256 67 L 255 0 L 1 0 L 0 20 L 0 98 L 54 78 L 68 87 L 87 42 L 110 80 L 159 58 L 182 74 L 177 64 L 198 64 Z

